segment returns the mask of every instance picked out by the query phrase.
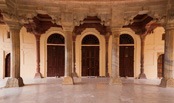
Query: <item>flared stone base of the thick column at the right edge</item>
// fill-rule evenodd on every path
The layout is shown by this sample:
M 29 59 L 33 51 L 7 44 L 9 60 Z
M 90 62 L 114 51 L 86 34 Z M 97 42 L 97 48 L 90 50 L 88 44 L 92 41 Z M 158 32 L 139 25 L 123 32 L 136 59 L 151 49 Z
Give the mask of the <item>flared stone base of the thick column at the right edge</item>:
M 171 88 L 174 88 L 174 79 L 161 79 L 161 83 L 159 85 L 160 87 L 171 87 Z

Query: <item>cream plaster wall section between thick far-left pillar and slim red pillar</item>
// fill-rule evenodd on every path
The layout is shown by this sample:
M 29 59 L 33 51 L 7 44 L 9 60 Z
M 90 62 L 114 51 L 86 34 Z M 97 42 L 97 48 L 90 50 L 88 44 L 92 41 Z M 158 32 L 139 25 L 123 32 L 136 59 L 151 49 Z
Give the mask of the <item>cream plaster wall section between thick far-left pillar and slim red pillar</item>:
M 36 72 L 36 41 L 33 34 L 23 27 L 20 32 L 21 77 L 34 78 Z

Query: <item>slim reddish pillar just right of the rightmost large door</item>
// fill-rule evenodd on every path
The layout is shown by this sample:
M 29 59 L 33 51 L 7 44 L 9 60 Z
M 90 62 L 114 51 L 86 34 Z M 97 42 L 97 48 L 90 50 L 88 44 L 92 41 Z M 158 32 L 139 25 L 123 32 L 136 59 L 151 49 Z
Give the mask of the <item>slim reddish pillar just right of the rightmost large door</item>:
M 140 54 L 140 74 L 139 79 L 146 79 L 146 75 L 144 73 L 144 45 L 145 45 L 146 34 L 140 35 L 141 40 L 141 54 Z

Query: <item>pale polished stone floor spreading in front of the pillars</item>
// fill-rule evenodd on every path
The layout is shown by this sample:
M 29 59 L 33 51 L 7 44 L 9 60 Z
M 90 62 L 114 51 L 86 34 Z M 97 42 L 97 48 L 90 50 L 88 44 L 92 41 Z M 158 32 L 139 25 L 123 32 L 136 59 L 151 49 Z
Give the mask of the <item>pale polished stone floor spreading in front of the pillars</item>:
M 109 78 L 75 78 L 75 85 L 62 85 L 62 78 L 24 80 L 20 88 L 3 88 L 0 103 L 174 103 L 174 88 L 158 87 L 160 80 L 122 79 L 108 85 Z

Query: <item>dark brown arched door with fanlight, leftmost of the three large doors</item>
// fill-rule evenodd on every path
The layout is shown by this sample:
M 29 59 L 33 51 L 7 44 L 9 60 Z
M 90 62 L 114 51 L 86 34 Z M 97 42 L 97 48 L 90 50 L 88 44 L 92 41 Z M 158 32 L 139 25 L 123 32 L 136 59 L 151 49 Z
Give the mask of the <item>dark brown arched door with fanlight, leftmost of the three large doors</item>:
M 47 39 L 47 77 L 64 76 L 65 68 L 65 40 L 58 33 Z

